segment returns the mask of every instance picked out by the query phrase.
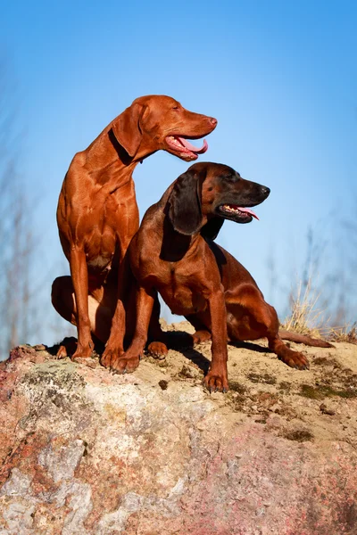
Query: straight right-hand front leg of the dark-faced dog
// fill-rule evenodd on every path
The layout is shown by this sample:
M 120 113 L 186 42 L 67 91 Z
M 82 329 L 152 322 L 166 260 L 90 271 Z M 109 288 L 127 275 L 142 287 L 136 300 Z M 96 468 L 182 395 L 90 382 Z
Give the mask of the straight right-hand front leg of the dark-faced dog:
M 212 363 L 204 378 L 204 383 L 210 392 L 227 392 L 227 312 L 222 286 L 212 292 L 208 299 L 208 306 L 212 324 Z

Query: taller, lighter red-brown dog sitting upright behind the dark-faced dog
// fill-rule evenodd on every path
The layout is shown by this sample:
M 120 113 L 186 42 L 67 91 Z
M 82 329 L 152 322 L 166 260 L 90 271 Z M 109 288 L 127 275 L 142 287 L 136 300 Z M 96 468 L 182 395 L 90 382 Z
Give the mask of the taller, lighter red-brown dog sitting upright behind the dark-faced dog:
M 160 149 L 193 161 L 207 144 L 197 149 L 187 138 L 206 136 L 216 125 L 216 119 L 187 111 L 169 96 L 142 96 L 74 156 L 57 209 L 71 277 L 58 277 L 52 292 L 54 308 L 78 327 L 72 358 L 90 356 L 91 331 L 102 340 L 109 334 L 118 268 L 139 223 L 132 180 L 137 163 Z M 97 325 L 93 310 L 99 303 L 107 313 Z

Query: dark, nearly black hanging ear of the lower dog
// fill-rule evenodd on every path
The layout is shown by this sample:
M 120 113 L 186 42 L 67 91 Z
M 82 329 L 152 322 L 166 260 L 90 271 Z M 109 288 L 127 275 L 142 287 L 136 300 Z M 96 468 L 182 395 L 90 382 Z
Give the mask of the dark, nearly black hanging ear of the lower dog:
M 202 222 L 201 193 L 203 177 L 188 169 L 175 182 L 169 203 L 169 218 L 180 234 L 194 235 Z

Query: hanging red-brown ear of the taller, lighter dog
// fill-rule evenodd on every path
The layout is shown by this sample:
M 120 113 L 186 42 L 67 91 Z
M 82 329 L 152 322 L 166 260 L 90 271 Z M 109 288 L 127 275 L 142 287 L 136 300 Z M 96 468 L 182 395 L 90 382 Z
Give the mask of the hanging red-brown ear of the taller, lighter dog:
M 144 106 L 133 103 L 112 121 L 112 132 L 116 140 L 131 158 L 136 155 L 143 136 L 140 118 L 144 111 Z

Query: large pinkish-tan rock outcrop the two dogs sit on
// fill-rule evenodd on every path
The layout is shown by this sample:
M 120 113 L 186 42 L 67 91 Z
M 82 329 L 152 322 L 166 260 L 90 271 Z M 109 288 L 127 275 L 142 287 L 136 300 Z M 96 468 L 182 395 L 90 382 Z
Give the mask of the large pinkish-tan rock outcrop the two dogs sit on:
M 0 535 L 357 533 L 357 347 L 310 372 L 257 347 L 230 348 L 226 396 L 203 390 L 208 344 L 126 375 L 12 350 Z

